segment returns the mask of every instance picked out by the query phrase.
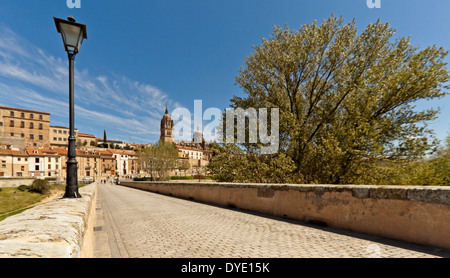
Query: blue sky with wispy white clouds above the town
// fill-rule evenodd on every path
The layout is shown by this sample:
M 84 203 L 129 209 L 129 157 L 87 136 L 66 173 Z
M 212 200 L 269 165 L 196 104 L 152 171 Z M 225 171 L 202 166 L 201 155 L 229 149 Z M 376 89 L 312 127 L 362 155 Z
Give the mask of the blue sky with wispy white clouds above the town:
M 51 125 L 68 126 L 67 55 L 53 16 L 73 15 L 87 25 L 88 40 L 75 61 L 76 127 L 127 142 L 159 138 L 169 110 L 194 100 L 203 110 L 228 107 L 244 58 L 273 25 L 299 28 L 334 13 L 356 18 L 360 29 L 381 18 L 411 36 L 414 45 L 450 50 L 450 1 L 381 0 L 3 0 L 0 4 L 0 105 L 51 113 Z M 447 57 L 447 61 L 450 57 Z M 450 96 L 421 102 L 440 106 L 431 128 L 450 132 Z

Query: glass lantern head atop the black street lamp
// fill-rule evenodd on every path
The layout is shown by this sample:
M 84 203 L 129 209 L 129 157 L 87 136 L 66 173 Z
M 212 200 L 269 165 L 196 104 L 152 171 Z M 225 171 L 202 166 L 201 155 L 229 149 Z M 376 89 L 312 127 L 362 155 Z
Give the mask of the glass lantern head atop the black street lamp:
M 53 18 L 56 30 L 61 34 L 64 47 L 68 53 L 76 54 L 80 50 L 83 39 L 87 39 L 86 25 L 77 23 L 73 17 L 67 20 Z

